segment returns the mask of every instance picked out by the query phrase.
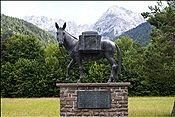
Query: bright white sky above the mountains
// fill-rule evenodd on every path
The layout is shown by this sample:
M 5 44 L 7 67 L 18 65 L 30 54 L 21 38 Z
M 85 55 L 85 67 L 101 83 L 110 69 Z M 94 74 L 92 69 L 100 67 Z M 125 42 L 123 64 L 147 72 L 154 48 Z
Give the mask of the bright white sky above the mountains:
M 148 6 L 156 5 L 156 1 L 1 1 L 1 13 L 21 19 L 35 15 L 92 24 L 113 5 L 142 13 L 149 11 Z

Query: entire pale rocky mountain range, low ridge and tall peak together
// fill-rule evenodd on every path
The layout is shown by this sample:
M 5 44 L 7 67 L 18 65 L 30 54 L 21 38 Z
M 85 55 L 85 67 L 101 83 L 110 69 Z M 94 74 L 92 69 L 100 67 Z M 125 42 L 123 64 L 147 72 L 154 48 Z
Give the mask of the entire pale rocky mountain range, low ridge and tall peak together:
M 24 19 L 54 35 L 56 32 L 55 22 L 58 22 L 60 25 L 65 22 L 64 19 L 54 19 L 46 16 L 25 16 Z M 113 39 L 115 36 L 119 36 L 144 22 L 145 20 L 141 14 L 122 7 L 112 6 L 94 24 L 79 25 L 74 21 L 67 21 L 66 31 L 78 38 L 83 31 L 94 30 L 102 35 L 103 38 Z

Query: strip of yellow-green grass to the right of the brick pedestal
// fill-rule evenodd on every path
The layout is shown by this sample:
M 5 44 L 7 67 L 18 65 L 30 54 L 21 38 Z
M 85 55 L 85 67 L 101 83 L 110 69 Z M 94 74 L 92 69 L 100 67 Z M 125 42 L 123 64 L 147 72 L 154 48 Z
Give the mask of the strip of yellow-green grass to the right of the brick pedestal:
M 175 97 L 130 97 L 129 117 L 170 116 Z

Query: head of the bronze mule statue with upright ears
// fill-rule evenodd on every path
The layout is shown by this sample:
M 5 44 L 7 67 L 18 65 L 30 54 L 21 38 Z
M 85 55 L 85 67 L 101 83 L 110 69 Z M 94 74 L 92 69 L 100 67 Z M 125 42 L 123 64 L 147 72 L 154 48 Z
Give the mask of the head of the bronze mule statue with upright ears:
M 60 46 L 64 44 L 64 38 L 65 38 L 65 31 L 66 28 L 66 22 L 64 23 L 63 27 L 59 27 L 58 24 L 55 22 L 55 27 L 57 29 L 57 40 Z

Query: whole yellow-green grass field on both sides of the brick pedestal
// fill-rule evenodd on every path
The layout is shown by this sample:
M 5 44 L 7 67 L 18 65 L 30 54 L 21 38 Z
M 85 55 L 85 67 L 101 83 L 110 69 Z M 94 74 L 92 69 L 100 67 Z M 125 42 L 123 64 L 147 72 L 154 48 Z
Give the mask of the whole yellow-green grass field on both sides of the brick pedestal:
M 175 97 L 129 97 L 129 117 L 170 116 Z M 1 117 L 59 117 L 59 98 L 1 98 Z

